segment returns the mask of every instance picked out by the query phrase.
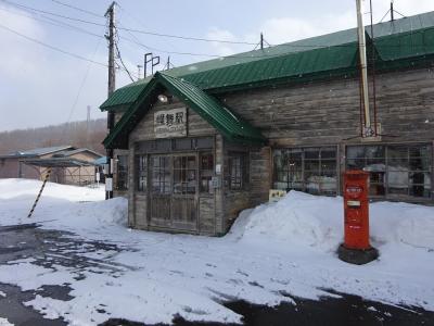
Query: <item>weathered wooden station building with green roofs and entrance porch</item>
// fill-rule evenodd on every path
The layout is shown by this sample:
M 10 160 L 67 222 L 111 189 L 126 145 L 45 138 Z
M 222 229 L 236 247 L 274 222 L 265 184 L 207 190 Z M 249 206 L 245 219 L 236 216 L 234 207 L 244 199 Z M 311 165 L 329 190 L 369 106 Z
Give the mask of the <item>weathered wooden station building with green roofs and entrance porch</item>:
M 129 225 L 224 235 L 269 189 L 434 203 L 434 12 L 366 28 L 371 121 L 361 137 L 357 29 L 158 72 L 117 89 L 104 140 Z M 374 75 L 372 72 L 374 71 Z

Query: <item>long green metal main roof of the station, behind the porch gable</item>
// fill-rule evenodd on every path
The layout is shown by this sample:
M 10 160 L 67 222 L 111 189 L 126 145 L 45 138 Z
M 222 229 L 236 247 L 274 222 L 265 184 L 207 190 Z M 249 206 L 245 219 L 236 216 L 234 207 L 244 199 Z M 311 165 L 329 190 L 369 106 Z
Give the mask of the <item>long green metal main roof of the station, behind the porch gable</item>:
M 371 28 L 366 27 L 370 36 Z M 378 68 L 393 61 L 434 54 L 434 12 L 373 26 Z M 195 84 L 208 92 L 242 89 L 307 77 L 339 76 L 357 67 L 357 30 L 341 30 L 290 43 L 189 64 L 165 74 Z M 407 64 L 408 62 L 406 62 Z M 152 77 L 117 89 L 100 108 L 125 110 L 133 103 Z

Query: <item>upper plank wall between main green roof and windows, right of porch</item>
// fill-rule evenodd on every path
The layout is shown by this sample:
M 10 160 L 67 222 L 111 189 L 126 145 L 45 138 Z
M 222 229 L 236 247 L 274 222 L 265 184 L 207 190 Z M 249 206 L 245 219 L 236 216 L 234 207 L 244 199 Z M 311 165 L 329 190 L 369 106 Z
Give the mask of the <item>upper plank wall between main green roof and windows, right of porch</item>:
M 434 138 L 432 70 L 383 74 L 375 82 L 383 141 Z M 220 100 L 259 127 L 272 146 L 336 145 L 353 137 L 360 142 L 357 79 L 233 92 Z

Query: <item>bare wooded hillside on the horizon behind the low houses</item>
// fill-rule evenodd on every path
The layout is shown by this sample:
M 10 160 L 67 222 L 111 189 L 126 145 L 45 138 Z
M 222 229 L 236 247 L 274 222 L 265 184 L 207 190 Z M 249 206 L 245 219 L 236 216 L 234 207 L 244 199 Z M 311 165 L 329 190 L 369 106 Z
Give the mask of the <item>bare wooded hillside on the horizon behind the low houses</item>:
M 0 154 L 40 147 L 75 146 L 104 154 L 102 140 L 107 134 L 105 118 L 71 122 L 40 128 L 0 133 Z

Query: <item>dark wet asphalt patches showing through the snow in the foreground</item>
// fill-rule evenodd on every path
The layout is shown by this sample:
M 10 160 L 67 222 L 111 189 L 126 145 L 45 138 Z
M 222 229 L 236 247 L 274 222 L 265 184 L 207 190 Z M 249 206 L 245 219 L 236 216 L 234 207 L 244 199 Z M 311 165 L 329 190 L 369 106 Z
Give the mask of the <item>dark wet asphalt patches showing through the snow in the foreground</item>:
M 74 267 L 75 277 L 85 277 L 81 272 L 89 272 L 92 266 L 99 271 L 105 268 L 105 273 L 118 273 L 120 266 L 107 264 L 98 259 L 84 258 L 75 254 L 80 249 L 87 252 L 120 251 L 123 249 L 104 242 L 81 240 L 74 235 L 56 230 L 42 230 L 35 224 L 21 226 L 0 227 L 0 265 L 11 264 L 17 259 L 36 259 L 34 264 L 55 268 L 55 266 Z M 67 252 L 68 254 L 62 254 Z M 101 272 L 99 272 L 101 273 Z M 64 286 L 43 286 L 36 291 L 22 291 L 18 287 L 0 284 L 0 291 L 7 296 L 0 296 L 0 317 L 5 317 L 16 326 L 58 326 L 66 325 L 62 319 L 44 319 L 42 315 L 31 306 L 23 302 L 33 300 L 36 294 L 50 297 L 58 300 L 71 300 L 72 289 Z M 330 291 L 332 292 L 332 291 Z M 434 325 L 434 312 L 427 312 L 413 306 L 386 305 L 380 302 L 363 300 L 357 296 L 335 293 L 333 298 L 323 298 L 320 301 L 305 300 L 291 297 L 296 304 L 282 303 L 279 306 L 254 305 L 248 302 L 227 302 L 225 305 L 244 316 L 245 325 L 251 326 L 412 326 Z M 434 298 L 433 298 L 434 299 Z M 144 325 L 141 323 L 108 319 L 102 325 Z M 218 323 L 192 323 L 179 316 L 175 316 L 174 325 L 221 325 Z M 151 326 L 151 325 L 145 325 Z M 152 325 L 154 326 L 154 325 Z M 158 326 L 164 326 L 159 324 Z

